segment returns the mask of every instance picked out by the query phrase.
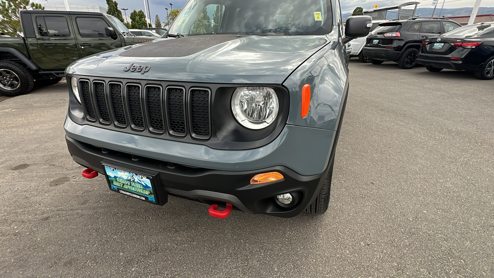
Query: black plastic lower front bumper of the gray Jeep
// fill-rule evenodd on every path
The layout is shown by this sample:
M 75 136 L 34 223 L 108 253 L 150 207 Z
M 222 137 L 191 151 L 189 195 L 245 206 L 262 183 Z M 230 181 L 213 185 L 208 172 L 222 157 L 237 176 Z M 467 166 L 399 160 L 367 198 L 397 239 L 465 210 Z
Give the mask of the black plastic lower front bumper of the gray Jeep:
M 104 173 L 102 161 L 107 161 L 136 171 L 157 172 L 158 186 L 161 187 L 158 193 L 207 205 L 215 203 L 220 207 L 228 202 L 233 204 L 234 209 L 246 213 L 296 216 L 313 202 L 324 181 L 324 175 L 301 176 L 284 166 L 254 171 L 218 171 L 138 157 L 96 147 L 67 136 L 66 141 L 74 161 L 84 167 Z M 284 179 L 260 185 L 250 184 L 252 177 L 266 172 L 279 172 Z M 276 196 L 288 192 L 300 194 L 298 203 L 290 208 L 278 205 Z

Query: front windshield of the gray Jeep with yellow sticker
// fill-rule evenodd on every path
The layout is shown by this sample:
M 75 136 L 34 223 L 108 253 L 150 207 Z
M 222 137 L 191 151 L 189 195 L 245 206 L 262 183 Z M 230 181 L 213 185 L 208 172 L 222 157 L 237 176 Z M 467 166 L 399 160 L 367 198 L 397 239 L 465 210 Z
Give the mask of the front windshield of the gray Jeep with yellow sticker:
M 190 0 L 169 33 L 325 35 L 331 26 L 330 0 Z

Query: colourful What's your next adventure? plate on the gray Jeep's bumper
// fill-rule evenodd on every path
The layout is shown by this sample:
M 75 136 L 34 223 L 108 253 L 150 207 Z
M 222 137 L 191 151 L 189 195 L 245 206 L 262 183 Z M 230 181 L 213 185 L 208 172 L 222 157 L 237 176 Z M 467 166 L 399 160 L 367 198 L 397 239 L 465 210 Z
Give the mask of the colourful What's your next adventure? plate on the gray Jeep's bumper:
M 158 204 L 152 179 L 142 174 L 103 165 L 108 184 L 112 191 L 125 194 L 143 201 Z

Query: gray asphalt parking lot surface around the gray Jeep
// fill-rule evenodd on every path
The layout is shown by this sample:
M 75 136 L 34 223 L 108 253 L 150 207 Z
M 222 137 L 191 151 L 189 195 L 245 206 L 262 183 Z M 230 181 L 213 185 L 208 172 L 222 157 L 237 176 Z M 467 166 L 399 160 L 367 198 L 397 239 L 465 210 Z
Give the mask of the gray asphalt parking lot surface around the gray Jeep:
M 494 81 L 350 60 L 329 210 L 290 219 L 82 178 L 65 82 L 0 97 L 0 277 L 494 277 Z

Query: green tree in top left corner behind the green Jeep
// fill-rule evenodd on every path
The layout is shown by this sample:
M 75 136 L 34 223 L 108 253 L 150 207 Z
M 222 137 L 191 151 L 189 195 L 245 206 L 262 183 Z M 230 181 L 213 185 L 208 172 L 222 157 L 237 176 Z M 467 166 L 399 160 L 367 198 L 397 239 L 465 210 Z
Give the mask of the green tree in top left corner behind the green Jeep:
M 27 9 L 44 10 L 44 7 L 29 0 L 0 0 L 0 32 L 20 37 L 22 29 L 19 11 Z

